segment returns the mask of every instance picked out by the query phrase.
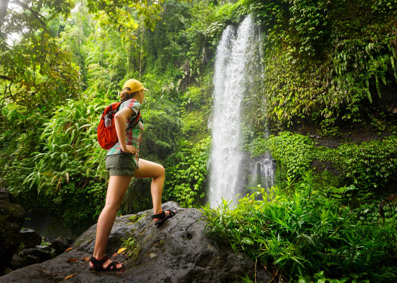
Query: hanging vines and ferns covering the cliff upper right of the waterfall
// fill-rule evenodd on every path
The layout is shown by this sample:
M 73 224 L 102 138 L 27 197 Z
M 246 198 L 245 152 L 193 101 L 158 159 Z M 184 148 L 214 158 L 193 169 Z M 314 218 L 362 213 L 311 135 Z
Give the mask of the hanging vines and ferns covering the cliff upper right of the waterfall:
M 337 134 L 340 123 L 367 120 L 364 106 L 396 84 L 396 0 L 243 3 L 267 34 L 266 115 L 253 109 L 263 121 L 312 119 Z

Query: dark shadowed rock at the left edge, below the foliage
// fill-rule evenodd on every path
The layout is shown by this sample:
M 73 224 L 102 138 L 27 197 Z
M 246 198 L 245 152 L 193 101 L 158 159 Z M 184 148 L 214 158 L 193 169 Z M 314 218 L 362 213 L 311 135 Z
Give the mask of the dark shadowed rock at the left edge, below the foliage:
M 26 216 L 25 210 L 11 200 L 8 190 L 0 188 L 0 275 L 20 244 L 19 230 Z

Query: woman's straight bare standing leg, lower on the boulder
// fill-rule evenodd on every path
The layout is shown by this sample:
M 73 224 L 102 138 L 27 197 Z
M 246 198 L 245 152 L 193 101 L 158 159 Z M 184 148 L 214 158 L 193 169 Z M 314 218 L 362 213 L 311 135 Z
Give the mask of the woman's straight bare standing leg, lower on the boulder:
M 110 231 L 131 179 L 132 176 L 110 176 L 105 207 L 99 215 L 96 226 L 95 248 L 92 256 L 97 260 L 102 259 L 106 255 Z M 111 260 L 106 261 L 103 267 L 106 268 L 110 263 Z M 90 265 L 92 264 L 90 263 Z M 122 264 L 118 264 L 116 267 L 120 268 L 122 266 Z

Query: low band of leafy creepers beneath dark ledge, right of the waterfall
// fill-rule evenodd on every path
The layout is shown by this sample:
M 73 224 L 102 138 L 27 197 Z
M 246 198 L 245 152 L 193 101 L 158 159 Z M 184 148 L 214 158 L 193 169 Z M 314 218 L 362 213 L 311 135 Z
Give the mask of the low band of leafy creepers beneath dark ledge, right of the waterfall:
M 396 180 L 396 143 L 397 136 L 393 135 L 360 144 L 342 143 L 337 148 L 316 147 L 309 137 L 280 132 L 268 140 L 255 139 L 247 149 L 253 156 L 270 151 L 277 162 L 275 181 L 278 186 L 285 186 L 287 179 L 300 178 L 303 172 L 313 168 L 315 160 L 319 160 L 332 165 L 339 184 L 351 182 L 360 189 L 369 189 Z M 331 180 L 332 176 L 329 178 Z

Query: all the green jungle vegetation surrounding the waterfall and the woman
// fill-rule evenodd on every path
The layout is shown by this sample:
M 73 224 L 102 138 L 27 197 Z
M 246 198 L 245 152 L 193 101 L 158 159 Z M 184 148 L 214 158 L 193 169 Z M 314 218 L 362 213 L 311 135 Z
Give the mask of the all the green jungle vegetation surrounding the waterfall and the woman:
M 140 154 L 166 168 L 164 199 L 204 205 L 216 47 L 250 13 L 264 68 L 244 149 L 271 152 L 279 197 L 246 187 L 236 210 L 206 208 L 209 230 L 284 279 L 396 280 L 397 0 L 4 0 L 0 185 L 27 210 L 93 221 L 109 178 L 99 117 L 136 78 L 150 89 Z M 150 208 L 149 182 L 120 213 Z

